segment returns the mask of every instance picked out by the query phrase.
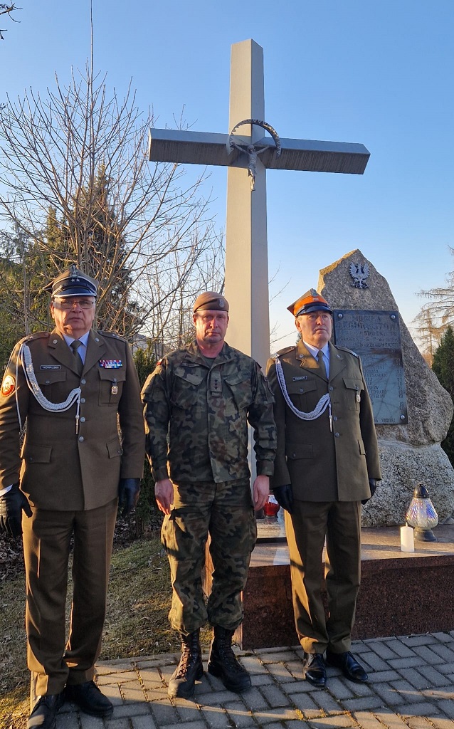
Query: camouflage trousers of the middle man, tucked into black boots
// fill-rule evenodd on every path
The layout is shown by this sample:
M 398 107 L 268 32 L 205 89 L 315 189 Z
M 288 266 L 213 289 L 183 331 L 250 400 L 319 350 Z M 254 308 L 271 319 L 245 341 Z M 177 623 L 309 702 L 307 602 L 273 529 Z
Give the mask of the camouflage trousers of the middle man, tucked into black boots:
M 214 571 L 206 604 L 202 572 L 208 533 Z M 187 635 L 208 619 L 235 630 L 243 620 L 240 593 L 257 538 L 249 480 L 174 484 L 173 507 L 161 537 L 171 567 L 172 627 Z

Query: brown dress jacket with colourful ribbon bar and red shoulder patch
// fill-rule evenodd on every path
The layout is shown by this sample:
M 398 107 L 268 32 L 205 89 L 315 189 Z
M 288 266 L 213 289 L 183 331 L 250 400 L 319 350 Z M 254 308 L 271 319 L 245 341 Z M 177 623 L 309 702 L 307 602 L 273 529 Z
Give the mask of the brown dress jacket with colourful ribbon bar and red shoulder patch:
M 30 349 L 36 381 L 50 402 L 64 402 L 80 387 L 77 405 L 49 411 L 28 388 L 19 359 Z M 20 423 L 26 437 L 20 450 Z M 71 348 L 57 330 L 21 340 L 12 351 L 0 391 L 0 488 L 20 480 L 32 506 L 88 510 L 118 495 L 123 478 L 141 478 L 145 457 L 144 418 L 136 367 L 128 343 L 91 330 L 82 375 Z

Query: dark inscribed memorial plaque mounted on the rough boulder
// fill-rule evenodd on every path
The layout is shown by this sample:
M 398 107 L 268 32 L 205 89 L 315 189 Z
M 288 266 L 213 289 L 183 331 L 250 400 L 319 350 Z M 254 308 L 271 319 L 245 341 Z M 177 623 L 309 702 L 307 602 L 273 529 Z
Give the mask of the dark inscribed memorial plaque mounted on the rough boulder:
M 334 343 L 361 357 L 375 423 L 406 424 L 399 312 L 336 309 L 333 323 Z

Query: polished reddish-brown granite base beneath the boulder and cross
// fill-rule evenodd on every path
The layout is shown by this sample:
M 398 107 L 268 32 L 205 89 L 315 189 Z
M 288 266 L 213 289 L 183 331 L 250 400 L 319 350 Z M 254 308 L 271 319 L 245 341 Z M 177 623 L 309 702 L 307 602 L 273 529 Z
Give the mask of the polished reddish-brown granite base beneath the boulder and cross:
M 454 525 L 434 529 L 437 542 L 400 549 L 399 527 L 361 530 L 361 589 L 353 639 L 450 631 L 454 628 Z M 206 592 L 211 581 L 207 548 Z M 243 650 L 298 643 L 291 604 L 289 550 L 257 545 L 243 593 L 244 620 L 235 633 Z

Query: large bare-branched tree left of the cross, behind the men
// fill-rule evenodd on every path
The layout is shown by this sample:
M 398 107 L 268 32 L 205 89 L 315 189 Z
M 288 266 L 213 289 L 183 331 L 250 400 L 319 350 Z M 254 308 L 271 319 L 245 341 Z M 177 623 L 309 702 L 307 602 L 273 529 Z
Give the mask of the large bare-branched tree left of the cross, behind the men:
M 169 325 L 200 270 L 222 278 L 222 241 L 203 175 L 186 182 L 184 168 L 149 163 L 152 114 L 141 116 L 130 87 L 108 95 L 91 68 L 1 106 L 0 222 L 28 241 L 37 284 L 76 262 L 101 281 L 103 327 L 163 342 L 152 321 Z

